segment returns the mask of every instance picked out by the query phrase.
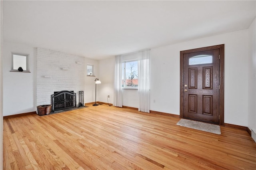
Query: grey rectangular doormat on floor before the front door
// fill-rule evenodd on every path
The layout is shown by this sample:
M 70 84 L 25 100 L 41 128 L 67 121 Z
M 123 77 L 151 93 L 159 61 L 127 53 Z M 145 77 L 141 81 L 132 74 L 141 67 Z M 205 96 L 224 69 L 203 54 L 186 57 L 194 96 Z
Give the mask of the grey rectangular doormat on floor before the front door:
M 180 125 L 182 127 L 194 128 L 197 130 L 202 130 L 205 132 L 211 132 L 215 134 L 221 134 L 219 125 L 212 125 L 210 123 L 203 123 L 197 121 L 191 121 L 187 119 L 180 119 L 176 125 Z

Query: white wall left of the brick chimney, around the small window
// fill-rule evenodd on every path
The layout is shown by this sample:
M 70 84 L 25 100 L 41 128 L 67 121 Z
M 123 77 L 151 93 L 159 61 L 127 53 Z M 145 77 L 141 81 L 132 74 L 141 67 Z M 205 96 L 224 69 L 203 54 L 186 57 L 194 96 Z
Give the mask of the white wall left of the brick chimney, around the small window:
M 12 52 L 29 54 L 29 71 L 11 72 Z M 34 58 L 36 50 L 18 43 L 4 42 L 3 59 L 3 115 L 15 115 L 35 111 L 36 107 L 36 69 Z

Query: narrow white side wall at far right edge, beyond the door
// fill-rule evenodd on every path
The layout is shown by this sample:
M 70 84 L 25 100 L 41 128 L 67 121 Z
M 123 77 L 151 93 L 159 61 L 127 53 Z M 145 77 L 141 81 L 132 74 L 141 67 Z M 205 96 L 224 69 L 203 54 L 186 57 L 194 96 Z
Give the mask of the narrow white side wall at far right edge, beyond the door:
M 256 19 L 249 28 L 248 128 L 256 132 Z

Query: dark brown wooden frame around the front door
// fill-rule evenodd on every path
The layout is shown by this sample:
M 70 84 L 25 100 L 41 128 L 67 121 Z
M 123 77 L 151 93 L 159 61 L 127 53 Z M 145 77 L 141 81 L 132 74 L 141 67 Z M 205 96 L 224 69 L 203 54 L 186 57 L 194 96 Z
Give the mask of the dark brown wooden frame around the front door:
M 180 51 L 180 118 L 183 118 L 183 97 L 184 97 L 183 96 L 183 90 L 184 90 L 183 55 L 185 53 L 193 53 L 193 52 L 206 51 L 211 49 L 219 49 L 220 51 L 220 54 L 219 54 L 219 59 L 220 59 L 220 121 L 219 121 L 219 125 L 224 126 L 224 44 Z

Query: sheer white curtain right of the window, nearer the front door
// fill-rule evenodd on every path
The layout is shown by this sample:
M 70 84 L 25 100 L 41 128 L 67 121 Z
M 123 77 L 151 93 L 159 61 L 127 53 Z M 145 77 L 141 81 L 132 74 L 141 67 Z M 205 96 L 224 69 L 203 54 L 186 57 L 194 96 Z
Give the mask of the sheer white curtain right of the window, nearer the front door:
M 138 78 L 138 95 L 139 111 L 149 113 L 150 111 L 150 87 L 149 87 L 149 59 L 150 49 L 139 51 L 139 78 Z

